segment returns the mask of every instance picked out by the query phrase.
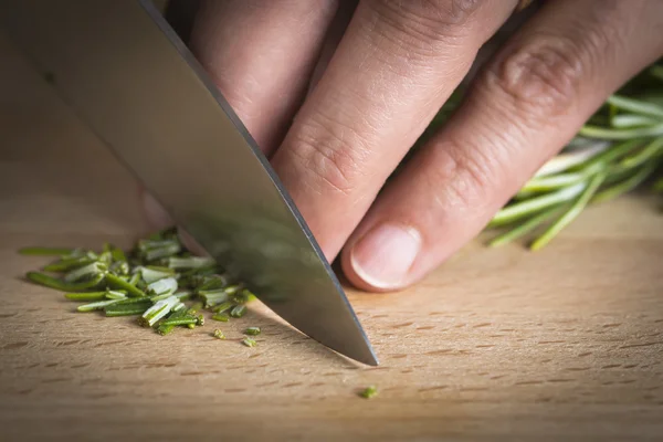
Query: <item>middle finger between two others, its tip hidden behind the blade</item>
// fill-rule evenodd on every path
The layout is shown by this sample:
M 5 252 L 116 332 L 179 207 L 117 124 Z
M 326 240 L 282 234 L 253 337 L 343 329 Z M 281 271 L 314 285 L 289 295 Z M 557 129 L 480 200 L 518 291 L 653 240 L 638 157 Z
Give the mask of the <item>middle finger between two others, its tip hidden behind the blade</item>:
M 274 155 L 333 259 L 516 1 L 360 1 Z

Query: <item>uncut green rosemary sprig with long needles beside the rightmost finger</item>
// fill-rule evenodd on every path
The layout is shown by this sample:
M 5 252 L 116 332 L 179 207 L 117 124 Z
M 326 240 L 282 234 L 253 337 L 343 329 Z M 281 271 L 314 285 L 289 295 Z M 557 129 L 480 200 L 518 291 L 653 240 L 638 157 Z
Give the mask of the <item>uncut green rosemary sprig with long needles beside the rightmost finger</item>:
M 529 245 L 539 250 L 588 206 L 635 190 L 660 173 L 663 102 L 654 97 L 660 96 L 661 82 L 663 65 L 654 65 L 610 96 L 569 145 L 495 214 L 486 228 L 505 231 L 490 245 L 504 245 L 544 228 Z M 651 190 L 663 192 L 663 178 Z

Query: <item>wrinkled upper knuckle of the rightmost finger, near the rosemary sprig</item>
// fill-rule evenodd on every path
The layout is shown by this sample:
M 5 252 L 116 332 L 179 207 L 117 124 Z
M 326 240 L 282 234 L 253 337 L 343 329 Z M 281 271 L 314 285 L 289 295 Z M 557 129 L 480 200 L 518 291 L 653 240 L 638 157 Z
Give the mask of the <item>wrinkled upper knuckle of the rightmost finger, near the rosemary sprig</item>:
M 585 66 L 565 38 L 539 38 L 517 46 L 485 72 L 484 85 L 506 94 L 516 109 L 546 118 L 565 114 L 579 95 Z

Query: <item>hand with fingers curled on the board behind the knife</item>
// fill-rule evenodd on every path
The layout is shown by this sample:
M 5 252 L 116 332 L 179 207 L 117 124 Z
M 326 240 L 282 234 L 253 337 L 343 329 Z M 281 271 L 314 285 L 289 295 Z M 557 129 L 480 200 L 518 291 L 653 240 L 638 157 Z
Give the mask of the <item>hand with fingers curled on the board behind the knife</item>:
M 474 238 L 663 55 L 661 0 L 544 2 L 385 186 L 518 3 L 208 0 L 191 48 L 326 256 L 340 252 L 358 287 L 392 291 Z

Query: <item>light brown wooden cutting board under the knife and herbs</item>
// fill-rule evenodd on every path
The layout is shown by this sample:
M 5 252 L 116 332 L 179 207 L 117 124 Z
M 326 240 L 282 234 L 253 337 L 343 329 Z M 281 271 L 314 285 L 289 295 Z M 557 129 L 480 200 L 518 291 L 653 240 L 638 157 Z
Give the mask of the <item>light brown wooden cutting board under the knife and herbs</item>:
M 21 246 L 129 246 L 147 225 L 128 173 L 3 40 L 0 54 L 0 439 L 663 438 L 656 201 L 592 208 L 538 253 L 477 240 L 402 293 L 349 291 L 377 368 L 260 306 L 225 341 L 209 324 L 161 337 L 21 280 L 44 263 Z M 235 340 L 246 325 L 256 348 Z

